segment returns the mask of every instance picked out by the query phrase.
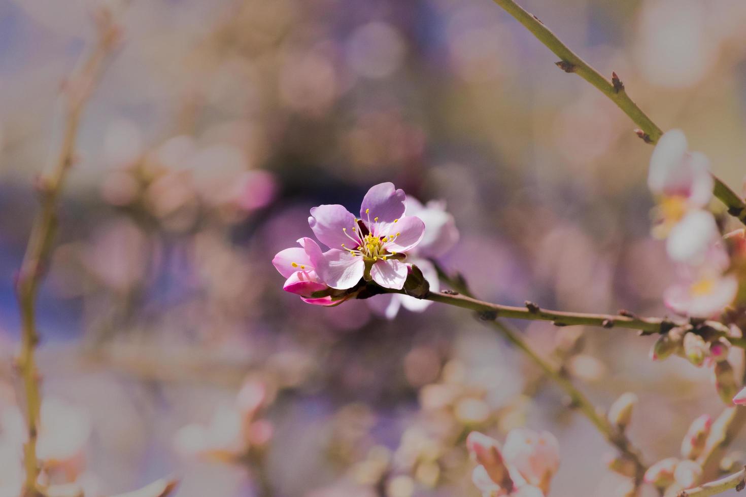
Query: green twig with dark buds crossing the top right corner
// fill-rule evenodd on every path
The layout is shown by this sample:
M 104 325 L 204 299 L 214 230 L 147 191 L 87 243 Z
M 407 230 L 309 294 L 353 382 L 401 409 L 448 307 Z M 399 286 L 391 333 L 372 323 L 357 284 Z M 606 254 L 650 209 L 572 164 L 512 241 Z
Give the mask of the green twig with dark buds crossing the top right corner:
M 646 143 L 655 143 L 662 136 L 662 130 L 651 121 L 642 110 L 635 104 L 635 102 L 627 95 L 627 90 L 624 88 L 624 84 L 621 82 L 619 77 L 612 72 L 611 80 L 607 80 L 606 77 L 602 76 L 600 72 L 593 69 L 589 63 L 581 59 L 574 51 L 571 51 L 552 31 L 547 28 L 538 17 L 532 13 L 524 10 L 523 7 L 515 3 L 514 0 L 493 0 L 496 4 L 513 16 L 518 22 L 524 25 L 528 31 L 533 34 L 536 39 L 539 39 L 547 48 L 554 52 L 557 57 L 560 57 L 560 62 L 557 66 L 565 72 L 574 72 L 584 80 L 591 83 L 599 91 L 601 91 L 606 97 L 614 102 L 625 114 L 627 114 L 632 121 L 637 124 L 640 129 L 638 135 L 645 140 Z M 722 203 L 728 208 L 728 213 L 738 218 L 743 224 L 746 224 L 746 203 L 744 200 L 736 194 L 735 191 L 730 189 L 716 177 L 714 174 L 712 177 L 715 179 L 715 188 L 713 193 L 715 197 L 721 200 Z

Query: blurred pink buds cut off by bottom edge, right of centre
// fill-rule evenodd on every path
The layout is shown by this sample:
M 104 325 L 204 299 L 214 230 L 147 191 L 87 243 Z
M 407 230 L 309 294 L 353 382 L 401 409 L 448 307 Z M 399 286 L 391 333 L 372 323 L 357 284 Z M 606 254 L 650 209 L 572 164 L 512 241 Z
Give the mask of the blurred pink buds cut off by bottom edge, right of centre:
M 560 467 L 560 447 L 548 431 L 514 428 L 502 448 L 494 438 L 472 431 L 466 445 L 480 464 L 472 478 L 484 497 L 543 497 Z

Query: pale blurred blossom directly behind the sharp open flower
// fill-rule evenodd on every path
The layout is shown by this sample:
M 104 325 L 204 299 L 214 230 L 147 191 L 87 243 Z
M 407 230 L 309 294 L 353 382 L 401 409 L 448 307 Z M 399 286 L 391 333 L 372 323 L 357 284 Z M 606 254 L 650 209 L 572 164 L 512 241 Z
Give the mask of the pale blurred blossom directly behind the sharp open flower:
M 424 222 L 424 235 L 419 244 L 409 251 L 407 262 L 416 265 L 422 271 L 422 276 L 427 279 L 431 291 L 439 291 L 438 271 L 427 258 L 444 255 L 459 240 L 459 230 L 454 216 L 445 210 L 445 203 L 437 200 L 430 200 L 423 206 L 415 197 L 409 196 L 404 205 L 406 215 L 416 216 Z M 400 294 L 380 295 L 370 299 L 368 303 L 376 314 L 387 319 L 393 319 L 401 307 L 407 311 L 422 312 L 432 304 L 430 300 Z

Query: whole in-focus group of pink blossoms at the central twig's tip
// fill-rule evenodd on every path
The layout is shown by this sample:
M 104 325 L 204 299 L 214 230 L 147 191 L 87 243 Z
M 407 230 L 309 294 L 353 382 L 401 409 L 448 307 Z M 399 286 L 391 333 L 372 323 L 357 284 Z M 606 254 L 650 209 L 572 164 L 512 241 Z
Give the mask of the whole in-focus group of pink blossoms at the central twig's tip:
M 311 238 L 301 238 L 302 248 L 280 251 L 272 264 L 286 278 L 285 291 L 316 305 L 336 305 L 355 297 L 361 279 L 401 290 L 413 264 L 437 289 L 437 272 L 426 258 L 445 253 L 458 240 L 454 219 L 441 204 L 422 206 L 418 200 L 407 200 L 393 183 L 369 189 L 360 218 L 339 204 L 314 207 L 310 213 L 308 224 L 329 250 L 323 252 Z M 386 317 L 394 317 L 400 306 L 416 311 L 427 307 L 403 295 L 376 299 L 373 308 Z

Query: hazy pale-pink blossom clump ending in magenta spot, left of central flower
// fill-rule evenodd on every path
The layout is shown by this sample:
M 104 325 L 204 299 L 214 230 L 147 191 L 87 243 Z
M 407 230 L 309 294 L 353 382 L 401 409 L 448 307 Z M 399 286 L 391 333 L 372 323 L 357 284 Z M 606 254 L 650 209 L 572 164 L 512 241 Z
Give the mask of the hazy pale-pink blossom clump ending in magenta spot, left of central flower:
M 173 136 L 145 148 L 131 121 L 116 121 L 104 138 L 110 173 L 101 194 L 115 206 L 138 206 L 164 227 L 189 229 L 201 215 L 231 223 L 269 204 L 275 177 L 251 168 L 247 151 L 230 140 L 201 145 L 192 136 Z

